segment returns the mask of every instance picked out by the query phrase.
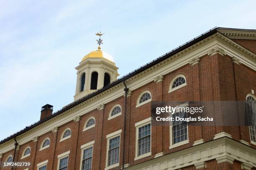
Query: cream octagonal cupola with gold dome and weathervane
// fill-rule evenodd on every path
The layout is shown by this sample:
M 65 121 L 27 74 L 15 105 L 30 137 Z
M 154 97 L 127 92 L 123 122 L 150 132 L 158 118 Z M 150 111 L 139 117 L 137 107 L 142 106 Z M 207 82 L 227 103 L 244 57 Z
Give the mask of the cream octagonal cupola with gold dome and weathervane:
M 95 90 L 98 90 L 118 77 L 118 67 L 115 66 L 113 57 L 101 50 L 102 44 L 101 32 L 96 35 L 100 36 L 98 50 L 92 51 L 82 58 L 77 70 L 77 85 L 74 100 L 78 100 Z

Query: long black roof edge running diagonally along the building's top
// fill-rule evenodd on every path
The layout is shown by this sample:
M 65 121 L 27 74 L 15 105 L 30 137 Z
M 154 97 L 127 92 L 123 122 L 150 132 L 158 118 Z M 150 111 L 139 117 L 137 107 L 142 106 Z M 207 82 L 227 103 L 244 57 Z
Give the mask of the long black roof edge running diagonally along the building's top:
M 155 60 L 151 61 L 151 62 L 148 62 L 147 64 L 141 66 L 140 68 L 132 71 L 132 72 L 129 72 L 127 75 L 124 75 L 123 77 L 120 77 L 119 79 L 111 82 L 109 85 L 105 86 L 105 87 L 102 87 L 101 89 L 95 91 L 95 92 L 92 92 L 90 93 L 89 95 L 85 96 L 85 97 L 82 97 L 81 99 L 75 101 L 75 102 L 72 102 L 71 104 L 63 107 L 61 110 L 58 110 L 56 112 L 54 112 L 51 116 L 49 117 L 46 117 L 45 119 L 41 120 L 41 121 L 38 121 L 38 122 L 35 122 L 34 124 L 26 127 L 25 129 L 23 130 L 20 130 L 18 131 L 17 133 L 14 133 L 13 135 L 10 135 L 9 137 L 3 139 L 0 141 L 0 145 L 7 142 L 8 140 L 11 140 L 15 137 L 17 137 L 18 135 L 21 135 L 22 133 L 25 133 L 27 132 L 28 130 L 31 130 L 33 128 L 35 128 L 36 126 L 50 120 L 51 118 L 71 109 L 72 107 L 76 106 L 76 105 L 79 105 L 80 103 L 100 94 L 101 92 L 104 92 L 105 90 L 108 90 L 110 89 L 111 87 L 114 87 L 115 85 L 118 85 L 119 83 L 133 77 L 134 75 L 137 75 L 138 73 L 140 72 L 143 72 L 144 70 L 148 69 L 149 67 L 152 67 L 156 64 L 158 64 L 159 62 L 162 62 L 163 60 L 166 60 L 167 58 L 171 57 L 172 55 L 175 55 L 176 53 L 178 52 L 181 52 L 182 50 L 186 49 L 187 47 L 191 46 L 191 45 L 194 45 L 196 44 L 197 42 L 200 42 L 201 40 L 204 40 L 205 38 L 207 37 L 210 37 L 211 35 L 215 34 L 218 32 L 218 27 L 215 27 L 215 28 L 212 28 L 211 30 L 208 30 L 207 32 L 195 37 L 194 39 L 184 43 L 183 45 L 180 45 L 179 47 L 173 49 L 172 51 L 170 52 L 167 52 L 166 54 L 156 58 Z

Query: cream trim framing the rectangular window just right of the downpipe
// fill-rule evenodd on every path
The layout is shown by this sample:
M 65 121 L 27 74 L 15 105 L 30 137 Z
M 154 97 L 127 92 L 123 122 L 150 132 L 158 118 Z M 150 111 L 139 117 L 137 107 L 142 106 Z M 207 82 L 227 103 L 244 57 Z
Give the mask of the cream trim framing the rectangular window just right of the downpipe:
M 145 154 L 143 154 L 143 155 L 139 155 L 138 156 L 138 129 L 140 128 L 140 127 L 142 127 L 142 126 L 144 126 L 144 125 L 147 125 L 147 124 L 151 124 L 151 117 L 148 117 L 147 119 L 145 119 L 145 120 L 142 120 L 142 121 L 140 121 L 140 122 L 137 122 L 137 123 L 135 123 L 135 127 L 136 127 L 136 142 L 135 142 L 135 158 L 134 158 L 134 160 L 139 160 L 139 159 L 141 159 L 141 158 L 145 158 L 145 157 L 148 157 L 148 156 L 150 156 L 151 155 L 151 149 L 152 149 L 152 146 L 151 146 L 151 142 L 152 142 L 152 126 L 151 126 L 151 128 L 150 128 L 150 152 L 149 153 L 145 153 Z M 151 124 L 152 125 L 152 124 Z

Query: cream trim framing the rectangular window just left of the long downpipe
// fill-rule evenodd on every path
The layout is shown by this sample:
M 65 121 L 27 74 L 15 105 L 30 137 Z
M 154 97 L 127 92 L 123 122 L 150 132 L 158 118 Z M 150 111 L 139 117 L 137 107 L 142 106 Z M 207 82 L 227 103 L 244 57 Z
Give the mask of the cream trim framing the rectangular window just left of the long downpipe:
M 122 129 L 114 132 L 114 133 L 110 133 L 106 136 L 107 138 L 107 153 L 106 153 L 106 166 L 105 166 L 105 170 L 109 170 L 111 168 L 115 168 L 119 166 L 120 163 L 120 147 L 121 147 L 121 133 L 122 133 Z M 118 163 L 114 164 L 114 165 L 110 165 L 108 166 L 108 150 L 109 150 L 109 140 L 112 138 L 115 138 L 117 136 L 120 136 L 120 143 L 119 143 L 119 160 Z

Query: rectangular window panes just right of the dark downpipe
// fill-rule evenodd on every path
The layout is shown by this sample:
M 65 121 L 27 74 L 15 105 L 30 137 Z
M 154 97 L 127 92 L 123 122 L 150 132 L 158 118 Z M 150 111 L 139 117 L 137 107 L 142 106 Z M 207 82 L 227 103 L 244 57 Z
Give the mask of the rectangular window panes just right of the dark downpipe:
M 151 151 L 151 124 L 138 128 L 138 156 Z

